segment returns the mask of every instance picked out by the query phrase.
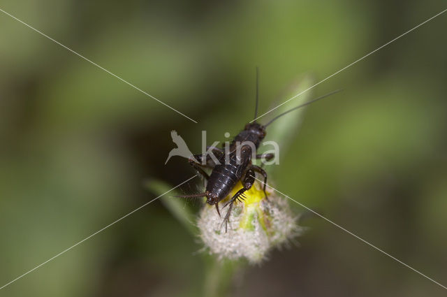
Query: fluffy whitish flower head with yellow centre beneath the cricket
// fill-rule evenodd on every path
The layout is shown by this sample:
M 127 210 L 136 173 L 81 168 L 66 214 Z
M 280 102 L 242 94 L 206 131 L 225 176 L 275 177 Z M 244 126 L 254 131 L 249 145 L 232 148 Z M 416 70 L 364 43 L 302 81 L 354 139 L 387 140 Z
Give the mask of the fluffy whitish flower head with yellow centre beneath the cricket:
M 241 188 L 242 184 L 237 184 L 219 205 L 224 205 Z M 219 217 L 214 205 L 204 205 L 198 218 L 200 238 L 210 254 L 219 259 L 245 258 L 250 263 L 260 263 L 271 249 L 299 236 L 303 229 L 298 226 L 287 201 L 270 189 L 267 201 L 260 183 L 256 182 L 244 194 L 245 200 L 233 205 L 227 232 L 223 217 Z M 226 211 L 228 206 L 221 209 L 222 215 Z

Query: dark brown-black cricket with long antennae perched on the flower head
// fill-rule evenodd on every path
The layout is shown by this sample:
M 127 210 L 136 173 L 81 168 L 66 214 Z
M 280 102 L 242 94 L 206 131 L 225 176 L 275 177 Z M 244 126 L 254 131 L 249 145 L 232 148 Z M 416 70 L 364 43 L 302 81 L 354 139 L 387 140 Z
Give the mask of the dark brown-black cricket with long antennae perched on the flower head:
M 252 143 L 254 147 L 256 147 L 256 150 L 258 150 L 259 145 L 266 135 L 265 128 L 268 125 L 272 124 L 272 122 L 274 122 L 276 119 L 282 117 L 283 115 L 286 115 L 286 113 L 290 113 L 293 110 L 302 108 L 309 105 L 310 103 L 341 91 L 337 90 L 334 92 L 330 92 L 311 101 L 307 101 L 300 106 L 296 106 L 295 108 L 291 108 L 290 110 L 277 115 L 277 117 L 271 119 L 270 122 L 262 125 L 256 122 L 256 117 L 258 115 L 258 77 L 258 68 L 256 68 L 256 108 L 254 120 L 246 124 L 244 130 L 240 131 L 240 133 L 235 136 L 233 141 L 231 141 L 230 143 L 230 147 L 227 150 L 225 150 L 225 145 L 223 145 L 223 149 L 220 149 L 218 147 L 207 147 L 207 150 L 211 149 L 213 154 L 216 156 L 217 160 L 219 161 L 218 164 L 216 164 L 208 154 L 205 154 L 205 156 L 203 156 L 203 154 L 195 154 L 193 155 L 193 157 L 189 158 L 189 164 L 191 164 L 191 166 L 193 166 L 193 168 L 195 168 L 198 173 L 200 173 L 200 175 L 203 175 L 205 180 L 207 180 L 207 186 L 204 193 L 178 196 L 206 197 L 208 204 L 216 205 L 216 210 L 220 217 L 221 214 L 219 211 L 219 202 L 222 201 L 223 198 L 226 198 L 228 194 L 230 194 L 230 191 L 235 187 L 237 182 L 242 180 L 242 189 L 237 191 L 237 193 L 233 197 L 231 197 L 225 205 L 223 205 L 223 208 L 229 205 L 228 212 L 226 212 L 226 215 L 223 219 L 223 222 L 225 222 L 225 231 L 227 231 L 227 223 L 230 219 L 230 213 L 233 208 L 233 203 L 236 200 L 244 200 L 244 192 L 249 190 L 255 182 L 255 173 L 260 173 L 261 175 L 263 175 L 263 191 L 265 194 L 265 198 L 268 199 L 267 193 L 265 192 L 265 186 L 267 184 L 267 173 L 260 166 L 251 164 L 253 153 L 252 147 L 248 144 L 244 145 L 244 143 Z M 242 147 L 238 147 L 238 145 L 241 144 Z M 206 158 L 206 163 L 203 162 L 204 164 L 202 164 L 200 163 L 200 161 L 197 161 L 203 160 L 203 157 Z M 273 157 L 274 154 L 256 154 L 256 159 L 265 159 L 267 161 L 271 160 Z M 203 170 L 204 168 L 211 168 L 211 175 L 208 175 Z

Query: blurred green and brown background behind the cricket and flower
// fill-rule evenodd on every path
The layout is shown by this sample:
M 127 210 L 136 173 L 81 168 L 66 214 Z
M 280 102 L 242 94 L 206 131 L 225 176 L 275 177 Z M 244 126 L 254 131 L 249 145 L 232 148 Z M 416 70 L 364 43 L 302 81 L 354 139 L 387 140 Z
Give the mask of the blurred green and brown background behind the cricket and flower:
M 193 174 L 200 152 L 445 7 L 443 1 L 1 1 L 15 15 L 198 121 L 162 106 L 0 13 L 0 285 Z M 312 90 L 270 180 L 447 284 L 447 15 Z M 287 107 L 295 106 L 291 101 Z M 275 113 L 261 119 L 266 121 Z M 286 127 L 284 128 L 286 129 Z M 274 135 L 269 135 L 274 139 Z M 199 180 L 182 187 L 190 193 Z M 200 205 L 187 201 L 185 208 Z M 303 209 L 292 205 L 297 214 Z M 233 296 L 445 296 L 445 289 L 323 219 L 300 246 L 237 275 Z M 202 246 L 156 201 L 0 296 L 200 296 Z

